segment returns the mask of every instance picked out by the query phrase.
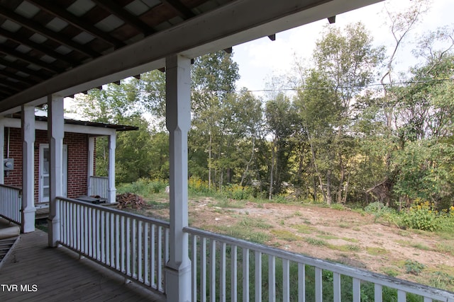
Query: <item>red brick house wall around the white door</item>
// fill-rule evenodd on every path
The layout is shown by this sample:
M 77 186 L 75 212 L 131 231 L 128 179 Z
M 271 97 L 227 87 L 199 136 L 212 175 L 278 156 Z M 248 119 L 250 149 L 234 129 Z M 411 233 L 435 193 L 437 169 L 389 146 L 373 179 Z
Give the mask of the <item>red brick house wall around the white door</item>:
M 14 158 L 14 170 L 6 172 L 5 185 L 22 187 L 22 139 L 21 129 L 10 128 L 9 158 Z M 47 132 L 36 130 L 35 138 L 35 202 L 39 194 L 40 144 L 48 144 Z M 88 135 L 65 132 L 63 144 L 67 145 L 67 193 L 74 198 L 87 194 Z M 8 128 L 5 129 L 4 156 L 7 157 Z

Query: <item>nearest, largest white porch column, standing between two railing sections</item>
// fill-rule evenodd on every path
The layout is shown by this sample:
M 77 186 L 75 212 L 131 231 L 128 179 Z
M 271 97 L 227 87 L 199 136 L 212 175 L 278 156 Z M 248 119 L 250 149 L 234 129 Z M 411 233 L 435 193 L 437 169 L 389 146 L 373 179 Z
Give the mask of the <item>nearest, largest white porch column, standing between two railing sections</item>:
M 167 301 L 191 301 L 187 219 L 187 132 L 191 124 L 191 60 L 166 59 L 166 124 L 170 132 L 170 257 L 165 268 Z

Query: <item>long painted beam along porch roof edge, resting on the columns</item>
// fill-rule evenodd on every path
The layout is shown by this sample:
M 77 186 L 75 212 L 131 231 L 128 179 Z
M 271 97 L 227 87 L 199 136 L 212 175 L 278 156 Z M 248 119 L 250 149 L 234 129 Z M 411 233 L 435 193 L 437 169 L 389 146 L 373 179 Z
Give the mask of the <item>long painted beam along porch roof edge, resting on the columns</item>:
M 169 54 L 198 57 L 380 1 L 232 1 L 6 98 L 0 112 L 25 103 L 45 103 L 50 93 L 72 95 L 160 68 Z

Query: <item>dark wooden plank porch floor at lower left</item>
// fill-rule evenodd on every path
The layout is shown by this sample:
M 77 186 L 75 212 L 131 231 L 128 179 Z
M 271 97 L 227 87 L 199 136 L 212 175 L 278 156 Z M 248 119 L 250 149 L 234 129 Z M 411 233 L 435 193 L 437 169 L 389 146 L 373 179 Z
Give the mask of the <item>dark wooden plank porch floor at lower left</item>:
M 21 235 L 0 268 L 0 301 L 165 301 L 67 248 L 48 248 L 47 242 L 43 231 Z

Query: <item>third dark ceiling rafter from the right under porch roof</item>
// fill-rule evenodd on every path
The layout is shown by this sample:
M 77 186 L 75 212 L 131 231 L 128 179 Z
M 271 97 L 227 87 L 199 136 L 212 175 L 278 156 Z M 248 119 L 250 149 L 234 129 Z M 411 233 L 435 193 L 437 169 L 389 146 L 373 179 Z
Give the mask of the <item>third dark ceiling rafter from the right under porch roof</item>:
M 124 42 L 87 23 L 87 21 L 84 21 L 84 18 L 74 16 L 66 9 L 61 8 L 61 6 L 58 4 L 58 1 L 28 0 L 28 2 L 35 4 L 35 6 L 38 6 L 43 11 L 46 11 L 51 15 L 58 16 L 58 18 L 66 21 L 67 23 L 70 23 L 74 27 L 85 31 L 90 35 L 94 35 L 95 37 L 98 37 L 99 39 L 104 40 L 111 45 L 114 45 L 116 48 L 120 48 L 126 45 Z

